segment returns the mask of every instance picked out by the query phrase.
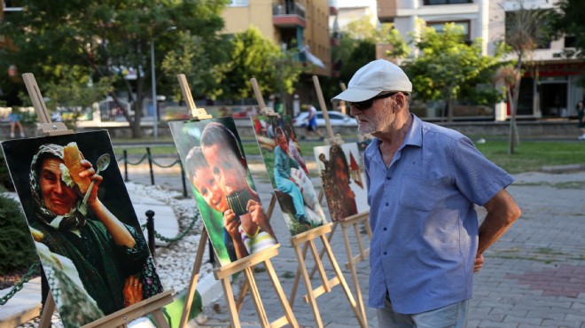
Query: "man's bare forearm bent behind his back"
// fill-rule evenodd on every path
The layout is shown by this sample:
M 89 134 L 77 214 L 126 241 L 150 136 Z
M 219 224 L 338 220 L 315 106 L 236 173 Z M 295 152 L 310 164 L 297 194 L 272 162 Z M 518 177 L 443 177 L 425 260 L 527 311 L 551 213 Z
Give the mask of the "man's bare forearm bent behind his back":
M 522 214 L 516 201 L 511 198 L 505 189 L 496 193 L 483 207 L 487 209 L 487 215 L 480 226 L 480 243 L 476 256 L 476 271 L 483 264 L 483 252 L 500 239 L 510 229 L 512 223 Z

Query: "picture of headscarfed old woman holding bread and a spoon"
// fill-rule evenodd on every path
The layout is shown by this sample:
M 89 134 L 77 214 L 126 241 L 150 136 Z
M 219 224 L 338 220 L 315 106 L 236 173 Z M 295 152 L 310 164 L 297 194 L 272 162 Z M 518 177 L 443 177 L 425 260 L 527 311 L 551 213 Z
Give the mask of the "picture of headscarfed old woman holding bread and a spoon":
M 2 149 L 66 328 L 163 292 L 107 131 Z

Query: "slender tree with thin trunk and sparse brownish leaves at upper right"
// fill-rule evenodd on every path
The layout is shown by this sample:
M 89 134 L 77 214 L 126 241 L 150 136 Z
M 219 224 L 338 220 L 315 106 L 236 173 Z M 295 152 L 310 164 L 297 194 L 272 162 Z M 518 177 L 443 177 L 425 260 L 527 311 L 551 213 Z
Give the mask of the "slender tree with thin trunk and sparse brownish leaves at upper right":
M 514 144 L 518 143 L 519 137 L 516 128 L 516 113 L 518 111 L 518 99 L 520 81 L 522 78 L 522 67 L 524 59 L 538 47 L 539 44 L 550 38 L 550 20 L 546 20 L 547 12 L 537 9 L 527 9 L 522 0 L 518 1 L 518 10 L 506 12 L 505 43 L 511 48 L 515 55 L 516 67 L 508 69 L 508 75 L 513 76 L 514 82 L 507 82 L 508 95 L 511 96 L 510 112 L 510 139 L 509 153 L 514 153 Z M 508 80 L 510 78 L 508 77 Z M 513 86 L 513 90 L 511 90 Z

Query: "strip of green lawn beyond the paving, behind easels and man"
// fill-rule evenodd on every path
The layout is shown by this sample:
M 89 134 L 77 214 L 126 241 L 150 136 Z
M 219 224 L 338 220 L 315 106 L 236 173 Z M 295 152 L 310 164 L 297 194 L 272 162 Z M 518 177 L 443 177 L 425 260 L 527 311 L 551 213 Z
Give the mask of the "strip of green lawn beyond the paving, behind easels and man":
M 355 139 L 355 136 L 345 137 L 346 140 Z M 475 139 L 473 139 L 475 140 Z M 114 138 L 114 152 L 117 157 L 122 156 L 123 150 L 127 150 L 129 155 L 144 155 L 146 145 L 152 142 L 152 137 L 142 139 L 118 139 Z M 151 145 L 153 155 L 175 156 L 176 149 L 172 137 L 159 137 L 159 142 L 170 144 Z M 134 145 L 136 144 L 136 145 Z M 260 155 L 258 144 L 253 137 L 243 137 L 244 152 L 246 156 Z M 303 156 L 308 160 L 314 158 L 313 147 L 324 145 L 322 141 L 302 141 L 300 150 Z M 585 142 L 583 141 L 521 141 L 521 144 L 515 147 L 515 153 L 508 155 L 507 140 L 487 140 L 485 144 L 476 144 L 480 152 L 487 159 L 492 160 L 511 174 L 538 171 L 545 166 L 585 165 Z

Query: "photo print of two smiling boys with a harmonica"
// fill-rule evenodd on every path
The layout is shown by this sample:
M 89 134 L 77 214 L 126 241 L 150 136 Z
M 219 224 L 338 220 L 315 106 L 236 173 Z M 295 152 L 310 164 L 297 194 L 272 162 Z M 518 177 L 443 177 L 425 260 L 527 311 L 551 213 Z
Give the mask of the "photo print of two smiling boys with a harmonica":
M 169 126 L 220 264 L 276 245 L 233 119 Z

